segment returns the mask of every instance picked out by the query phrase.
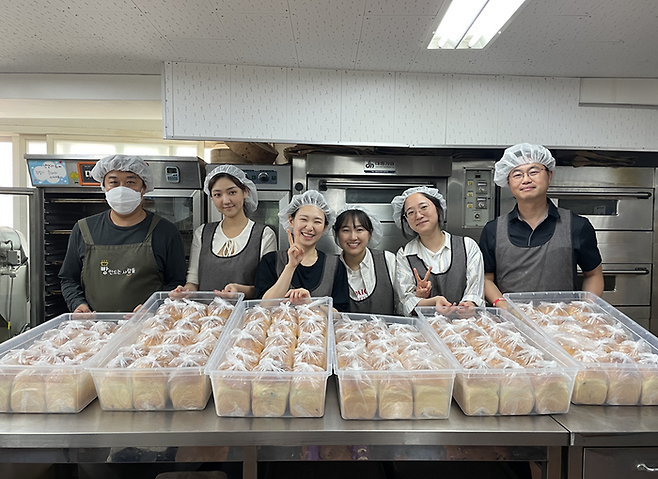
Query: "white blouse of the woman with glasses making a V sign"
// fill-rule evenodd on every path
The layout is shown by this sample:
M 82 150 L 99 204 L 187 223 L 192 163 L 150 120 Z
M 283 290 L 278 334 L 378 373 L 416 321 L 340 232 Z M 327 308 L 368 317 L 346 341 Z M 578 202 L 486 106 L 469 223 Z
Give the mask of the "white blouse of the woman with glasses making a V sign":
M 405 316 L 411 315 L 422 298 L 416 296 L 416 277 L 409 265 L 407 256 L 418 255 L 426 267 L 432 267 L 432 273 L 445 273 L 450 268 L 452 255 L 450 254 L 450 233 L 444 231 L 443 246 L 433 253 L 423 245 L 419 237 L 409 241 L 397 253 L 397 293 L 400 306 Z M 473 238 L 464 237 L 466 249 L 466 291 L 461 301 L 472 301 L 477 306 L 484 306 L 484 262 L 482 252 Z M 419 273 L 420 274 L 420 273 Z M 430 292 L 430 297 L 435 292 Z

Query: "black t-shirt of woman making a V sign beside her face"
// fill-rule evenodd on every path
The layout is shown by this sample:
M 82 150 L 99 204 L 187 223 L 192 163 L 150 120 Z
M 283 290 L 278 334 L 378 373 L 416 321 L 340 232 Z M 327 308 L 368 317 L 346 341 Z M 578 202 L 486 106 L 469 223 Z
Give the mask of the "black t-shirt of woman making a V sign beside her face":
M 318 251 L 318 259 L 312 266 L 299 265 L 292 274 L 290 288 L 304 288 L 309 291 L 314 290 L 322 281 L 322 271 L 327 255 Z M 256 271 L 256 281 L 254 287 L 255 297 L 262 298 L 279 279 L 276 272 L 276 251 L 267 253 L 260 260 L 258 270 Z M 350 310 L 350 289 L 347 282 L 347 271 L 342 261 L 338 261 L 336 274 L 334 275 L 334 284 L 331 292 L 334 299 L 334 308 L 338 311 L 349 312 Z

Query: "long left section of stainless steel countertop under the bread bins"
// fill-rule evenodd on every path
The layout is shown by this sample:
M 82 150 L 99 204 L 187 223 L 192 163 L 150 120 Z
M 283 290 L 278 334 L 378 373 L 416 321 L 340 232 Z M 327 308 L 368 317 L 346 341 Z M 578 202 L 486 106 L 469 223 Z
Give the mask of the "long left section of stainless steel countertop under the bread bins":
M 2 448 L 308 444 L 567 446 L 569 433 L 550 416 L 467 417 L 454 401 L 447 420 L 345 421 L 333 378 L 317 419 L 221 418 L 212 399 L 203 411 L 109 412 L 95 400 L 79 414 L 0 414 Z

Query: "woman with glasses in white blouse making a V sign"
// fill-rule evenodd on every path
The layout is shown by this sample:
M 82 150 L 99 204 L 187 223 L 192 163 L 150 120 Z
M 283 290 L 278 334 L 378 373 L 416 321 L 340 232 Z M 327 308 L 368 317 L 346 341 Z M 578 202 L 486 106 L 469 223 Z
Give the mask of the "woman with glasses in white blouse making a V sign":
M 482 253 L 473 239 L 441 229 L 446 202 L 436 188 L 409 188 L 391 202 L 405 238 L 397 253 L 397 287 L 402 312 L 417 306 L 482 306 Z

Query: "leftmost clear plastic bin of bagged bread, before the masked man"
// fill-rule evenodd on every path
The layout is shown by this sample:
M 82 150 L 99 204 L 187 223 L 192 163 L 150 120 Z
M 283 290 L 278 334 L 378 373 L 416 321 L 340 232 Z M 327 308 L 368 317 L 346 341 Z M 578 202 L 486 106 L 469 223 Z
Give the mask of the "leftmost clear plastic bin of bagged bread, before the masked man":
M 96 397 L 86 368 L 125 322 L 124 313 L 67 313 L 0 344 L 0 412 L 82 411 Z

